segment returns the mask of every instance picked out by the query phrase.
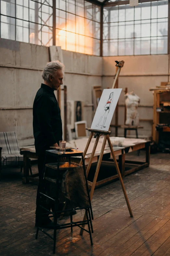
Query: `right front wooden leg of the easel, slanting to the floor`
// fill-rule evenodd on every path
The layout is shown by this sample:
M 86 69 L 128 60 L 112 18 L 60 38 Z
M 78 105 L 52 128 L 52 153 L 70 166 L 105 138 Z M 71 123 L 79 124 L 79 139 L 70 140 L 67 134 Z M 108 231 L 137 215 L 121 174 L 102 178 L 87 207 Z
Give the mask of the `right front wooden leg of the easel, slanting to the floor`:
M 109 135 L 107 135 L 107 140 L 108 140 L 108 143 L 109 143 L 109 147 L 110 147 L 110 150 L 111 150 L 111 155 L 112 155 L 112 158 L 114 160 L 114 164 L 115 164 L 115 167 L 116 167 L 116 171 L 117 171 L 117 174 L 119 176 L 119 179 L 120 179 L 120 183 L 121 183 L 121 186 L 122 186 L 122 190 L 124 192 L 124 197 L 125 197 L 125 200 L 126 200 L 126 204 L 127 204 L 127 207 L 128 207 L 128 210 L 129 210 L 129 213 L 130 213 L 130 216 L 133 217 L 133 213 L 132 213 L 132 210 L 130 208 L 130 204 L 129 204 L 129 200 L 127 198 L 127 194 L 126 194 L 126 190 L 125 190 L 125 187 L 124 187 L 124 183 L 123 183 L 123 180 L 122 180 L 122 176 L 120 174 L 120 170 L 119 170 L 119 166 L 117 164 L 117 161 L 116 161 L 116 157 L 114 155 L 114 151 L 113 151 L 113 148 L 112 148 L 112 145 L 111 145 L 111 141 L 110 141 L 110 138 L 109 138 Z

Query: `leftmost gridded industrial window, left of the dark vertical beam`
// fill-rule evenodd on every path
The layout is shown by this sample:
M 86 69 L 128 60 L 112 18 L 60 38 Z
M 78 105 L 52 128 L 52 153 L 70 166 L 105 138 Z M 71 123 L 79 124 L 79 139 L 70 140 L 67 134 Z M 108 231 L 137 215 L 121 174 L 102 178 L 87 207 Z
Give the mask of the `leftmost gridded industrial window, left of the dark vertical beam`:
M 52 0 L 0 0 L 0 37 L 52 45 Z

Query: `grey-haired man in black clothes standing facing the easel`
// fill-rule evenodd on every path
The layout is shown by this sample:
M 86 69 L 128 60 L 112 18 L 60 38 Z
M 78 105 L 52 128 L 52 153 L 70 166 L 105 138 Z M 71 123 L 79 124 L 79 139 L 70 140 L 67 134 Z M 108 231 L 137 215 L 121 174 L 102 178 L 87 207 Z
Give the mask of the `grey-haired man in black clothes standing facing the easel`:
M 46 150 L 50 146 L 58 147 L 62 140 L 62 122 L 59 104 L 54 94 L 60 85 L 63 84 L 64 65 L 57 61 L 48 62 L 42 72 L 44 83 L 38 90 L 33 103 L 33 134 L 35 139 L 35 150 L 38 155 L 38 173 L 39 185 L 37 190 L 37 201 L 39 195 L 39 186 L 43 174 L 43 166 Z M 52 205 L 45 205 L 50 210 Z M 42 208 L 41 213 L 46 213 Z M 36 209 L 37 213 L 37 209 Z M 46 217 L 38 220 L 36 217 L 35 226 L 50 226 L 50 218 Z M 52 223 L 51 223 L 52 224 Z

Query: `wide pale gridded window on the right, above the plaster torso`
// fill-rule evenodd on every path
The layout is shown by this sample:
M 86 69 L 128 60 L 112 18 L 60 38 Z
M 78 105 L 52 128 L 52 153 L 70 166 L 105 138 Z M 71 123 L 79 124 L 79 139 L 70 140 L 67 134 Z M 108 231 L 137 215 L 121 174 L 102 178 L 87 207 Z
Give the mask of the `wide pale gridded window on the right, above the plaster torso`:
M 167 42 L 168 0 L 104 8 L 104 56 L 166 54 Z

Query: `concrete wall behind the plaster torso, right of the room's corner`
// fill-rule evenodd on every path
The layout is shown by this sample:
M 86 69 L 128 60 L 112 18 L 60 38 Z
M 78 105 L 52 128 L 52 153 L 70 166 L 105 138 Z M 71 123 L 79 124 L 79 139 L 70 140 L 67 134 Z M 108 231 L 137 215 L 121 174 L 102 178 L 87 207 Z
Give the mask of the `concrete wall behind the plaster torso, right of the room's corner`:
M 143 55 L 143 56 L 118 56 L 103 57 L 102 88 L 112 87 L 113 74 L 116 73 L 115 60 L 124 60 L 124 67 L 119 76 L 119 88 L 128 88 L 128 92 L 134 92 L 140 97 L 138 108 L 140 125 L 143 129 L 139 135 L 151 136 L 153 120 L 153 95 L 150 87 L 160 86 L 161 82 L 168 81 L 168 55 Z M 124 93 L 121 94 L 118 108 L 118 124 L 124 124 Z M 147 121 L 148 120 L 148 121 Z M 112 124 L 115 123 L 113 116 Z M 118 129 L 118 135 L 123 135 L 123 129 Z M 112 128 L 114 134 L 114 128 Z M 135 134 L 133 131 L 131 135 Z

